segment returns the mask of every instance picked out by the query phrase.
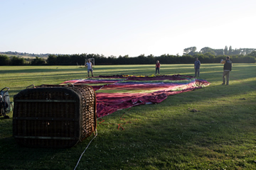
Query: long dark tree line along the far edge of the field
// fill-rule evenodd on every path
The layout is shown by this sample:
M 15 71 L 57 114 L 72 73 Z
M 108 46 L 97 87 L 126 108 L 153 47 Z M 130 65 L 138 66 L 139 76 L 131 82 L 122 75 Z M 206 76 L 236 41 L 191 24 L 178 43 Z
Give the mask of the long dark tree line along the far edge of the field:
M 104 55 L 98 54 L 76 54 L 76 55 L 48 55 L 48 59 L 44 60 L 41 57 L 36 57 L 27 62 L 21 57 L 7 57 L 6 55 L 0 55 L 0 65 L 84 65 L 85 60 L 89 58 L 95 59 L 95 64 L 97 65 L 112 65 L 112 64 L 155 64 L 156 60 L 159 60 L 161 64 L 193 64 L 195 58 L 201 61 L 201 63 L 220 63 L 220 60 L 225 60 L 227 55 L 215 55 L 213 52 L 209 52 L 208 47 L 205 47 L 202 52 L 196 52 L 195 48 L 191 48 L 194 51 L 193 55 L 189 50 L 184 49 L 184 54 L 179 55 L 169 55 L 164 54 L 161 56 L 154 55 L 139 55 L 138 57 L 124 56 L 110 56 L 105 57 Z M 214 50 L 213 50 L 214 51 Z M 187 52 L 187 53 L 186 53 Z M 255 63 L 256 51 L 248 53 L 247 55 L 229 55 L 230 60 L 233 63 Z

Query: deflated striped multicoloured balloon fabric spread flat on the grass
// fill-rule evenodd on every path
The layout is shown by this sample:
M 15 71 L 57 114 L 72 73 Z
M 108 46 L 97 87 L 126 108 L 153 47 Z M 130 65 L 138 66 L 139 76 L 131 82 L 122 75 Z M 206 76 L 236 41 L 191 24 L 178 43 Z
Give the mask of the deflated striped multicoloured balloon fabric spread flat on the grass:
M 92 86 L 97 98 L 97 117 L 103 117 L 132 106 L 160 103 L 167 96 L 201 89 L 210 83 L 191 76 L 114 75 L 65 81 L 63 84 Z

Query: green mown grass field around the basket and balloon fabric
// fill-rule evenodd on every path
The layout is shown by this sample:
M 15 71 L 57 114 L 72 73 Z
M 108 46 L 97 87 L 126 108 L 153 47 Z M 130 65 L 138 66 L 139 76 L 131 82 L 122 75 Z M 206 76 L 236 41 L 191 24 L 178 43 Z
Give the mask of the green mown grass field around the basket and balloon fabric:
M 193 64 L 163 64 L 160 71 L 194 75 Z M 256 64 L 233 64 L 229 86 L 221 85 L 222 73 L 221 64 L 202 64 L 200 79 L 210 86 L 103 117 L 109 125 L 97 125 L 98 135 L 77 169 L 256 169 Z M 95 76 L 116 74 L 151 75 L 154 65 L 94 68 Z M 13 101 L 31 84 L 84 79 L 87 72 L 76 66 L 22 66 L 0 67 L 0 75 L 0 88 L 9 87 Z M 8 115 L 0 118 L 0 169 L 74 169 L 94 137 L 70 149 L 19 147 Z M 119 123 L 127 123 L 124 130 L 117 130 Z

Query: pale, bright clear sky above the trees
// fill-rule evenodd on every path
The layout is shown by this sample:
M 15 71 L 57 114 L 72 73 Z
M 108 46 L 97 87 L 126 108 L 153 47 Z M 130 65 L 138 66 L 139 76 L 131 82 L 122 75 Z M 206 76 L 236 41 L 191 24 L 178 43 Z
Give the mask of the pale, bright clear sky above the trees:
M 0 0 L 0 52 L 182 55 L 256 48 L 255 0 Z

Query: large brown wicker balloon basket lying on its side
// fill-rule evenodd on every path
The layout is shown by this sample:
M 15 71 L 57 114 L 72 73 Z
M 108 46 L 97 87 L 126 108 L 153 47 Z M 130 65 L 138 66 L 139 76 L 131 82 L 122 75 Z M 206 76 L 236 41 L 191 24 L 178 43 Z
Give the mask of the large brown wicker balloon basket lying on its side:
M 73 147 L 96 130 L 91 86 L 41 85 L 14 96 L 13 133 L 26 147 Z

